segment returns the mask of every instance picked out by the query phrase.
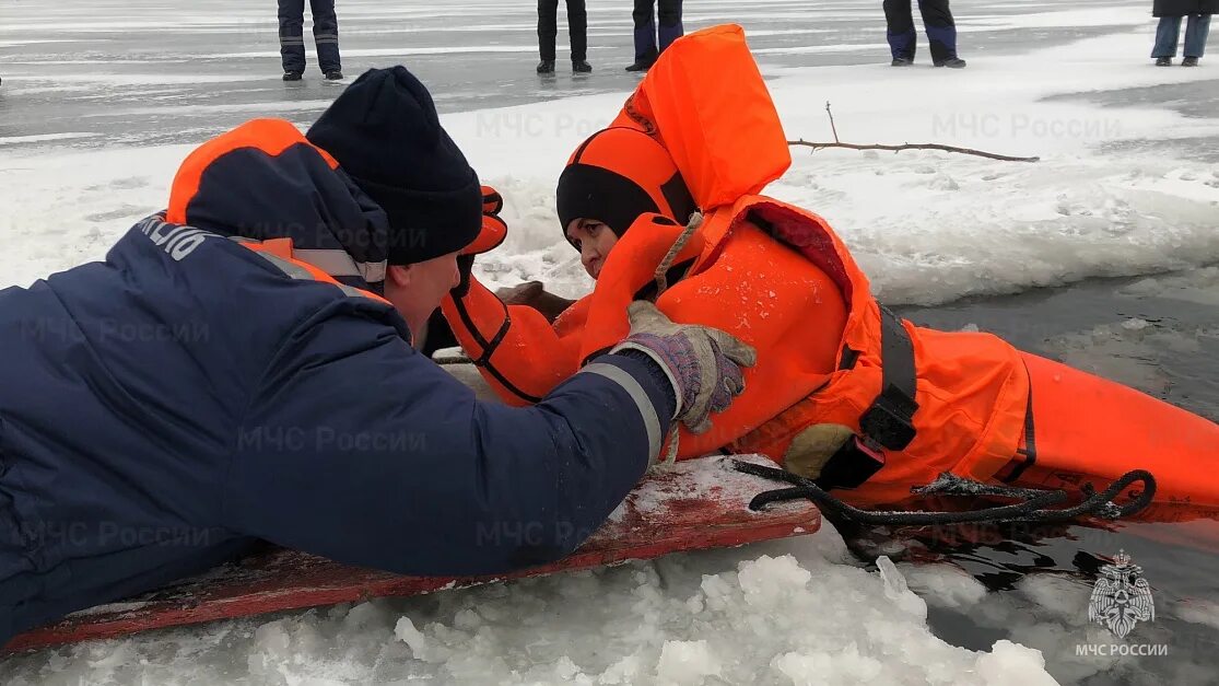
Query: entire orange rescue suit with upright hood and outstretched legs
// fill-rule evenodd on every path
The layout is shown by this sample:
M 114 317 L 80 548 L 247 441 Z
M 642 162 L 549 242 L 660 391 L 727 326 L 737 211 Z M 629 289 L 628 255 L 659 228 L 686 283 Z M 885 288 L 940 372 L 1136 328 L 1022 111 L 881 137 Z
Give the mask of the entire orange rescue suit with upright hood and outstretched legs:
M 679 457 L 725 448 L 784 461 L 823 430 L 858 435 L 887 366 L 892 378 L 907 370 L 914 377 L 917 433 L 883 450 L 884 466 L 846 499 L 903 499 L 942 471 L 1074 489 L 1148 469 L 1157 503 L 1141 518 L 1219 516 L 1212 477 L 1219 425 L 989 333 L 939 332 L 883 314 L 824 220 L 761 195 L 791 157 L 740 27 L 675 42 L 611 126 L 659 143 L 705 214 L 657 305 L 675 321 L 724 328 L 758 349 L 744 394 L 712 416 L 707 435 L 683 433 Z M 533 402 L 627 334 L 627 305 L 655 297 L 653 270 L 680 233 L 664 217 L 636 220 L 592 294 L 553 326 L 478 283 L 461 303 L 449 299 L 445 315 L 505 400 Z M 895 330 L 906 336 L 886 338 Z M 908 339 L 909 353 L 889 359 L 912 364 L 886 363 L 886 339 Z

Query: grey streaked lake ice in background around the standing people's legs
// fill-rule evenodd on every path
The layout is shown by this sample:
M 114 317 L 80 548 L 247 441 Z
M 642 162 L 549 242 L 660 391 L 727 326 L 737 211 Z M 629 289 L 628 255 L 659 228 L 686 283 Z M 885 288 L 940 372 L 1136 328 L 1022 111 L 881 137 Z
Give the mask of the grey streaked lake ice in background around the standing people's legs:
M 741 23 L 767 66 L 887 62 L 884 17 L 870 1 L 701 0 L 688 4 L 686 26 Z M 1073 9 L 1104 10 L 1106 0 Z M 1135 6 L 1141 6 L 1134 2 Z M 279 81 L 274 5 L 234 0 L 193 2 L 9 0 L 0 7 L 0 145 L 71 142 L 76 146 L 196 142 L 255 116 L 312 121 L 335 95 L 316 71 L 306 23 L 306 81 Z M 1089 35 L 1128 31 L 1129 17 L 1046 21 L 1053 1 L 970 1 L 957 12 L 961 54 L 998 59 Z M 564 10 L 560 20 L 566 21 Z M 1151 20 L 1143 27 L 1152 31 Z M 624 92 L 638 81 L 631 61 L 629 5 L 591 2 L 589 60 L 594 73 L 573 77 L 560 26 L 558 73 L 539 78 L 536 12 L 531 2 L 339 2 L 340 48 L 347 81 L 373 66 L 406 65 L 433 90 L 441 111 L 519 105 L 557 96 Z M 920 59 L 928 60 L 925 37 Z M 1114 56 L 1114 68 L 1147 66 L 1143 54 Z M 1168 100 L 1214 111 L 1219 81 L 1206 93 L 1117 96 L 1118 103 Z M 1208 94 L 1208 95 L 1207 95 Z M 883 98 L 883 93 L 876 96 Z M 30 138 L 33 139 L 30 140 Z

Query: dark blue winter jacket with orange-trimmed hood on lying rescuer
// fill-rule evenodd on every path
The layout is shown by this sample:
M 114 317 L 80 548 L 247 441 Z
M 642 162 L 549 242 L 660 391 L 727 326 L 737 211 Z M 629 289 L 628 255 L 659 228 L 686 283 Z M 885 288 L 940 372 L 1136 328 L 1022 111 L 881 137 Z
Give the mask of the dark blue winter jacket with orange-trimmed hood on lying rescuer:
M 257 540 L 406 574 L 551 561 L 658 453 L 649 363 L 477 402 L 384 300 L 233 239 L 375 291 L 384 212 L 288 122 L 193 154 L 166 216 L 0 291 L 0 644 Z

